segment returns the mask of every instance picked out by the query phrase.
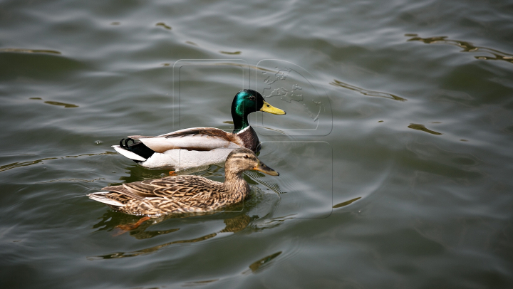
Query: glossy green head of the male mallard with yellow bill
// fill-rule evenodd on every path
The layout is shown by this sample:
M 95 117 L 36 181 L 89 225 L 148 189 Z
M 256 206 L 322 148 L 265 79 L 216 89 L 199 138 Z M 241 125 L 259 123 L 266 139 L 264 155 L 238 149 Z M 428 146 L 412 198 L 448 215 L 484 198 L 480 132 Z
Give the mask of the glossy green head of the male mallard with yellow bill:
M 256 111 L 269 112 L 273 115 L 286 114 L 283 110 L 269 105 L 257 91 L 251 89 L 241 90 L 235 95 L 232 103 L 232 118 L 235 126 L 234 132 L 239 132 L 239 130 L 243 130 L 249 126 L 247 116 Z

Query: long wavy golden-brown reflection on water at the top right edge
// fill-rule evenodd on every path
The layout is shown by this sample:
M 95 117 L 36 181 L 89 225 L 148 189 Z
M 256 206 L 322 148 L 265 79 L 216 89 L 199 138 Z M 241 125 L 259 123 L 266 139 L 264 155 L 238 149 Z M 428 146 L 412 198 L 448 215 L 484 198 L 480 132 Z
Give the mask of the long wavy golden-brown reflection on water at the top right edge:
M 405 36 L 414 36 L 414 37 L 408 39 L 408 41 L 421 41 L 426 44 L 444 43 L 444 44 L 463 48 L 463 50 L 461 52 L 480 51 L 480 52 L 490 53 L 493 55 L 493 56 L 474 56 L 476 59 L 484 59 L 487 61 L 507 61 L 509 63 L 513 63 L 513 54 L 504 53 L 502 51 L 498 51 L 493 48 L 487 48 L 487 47 L 483 47 L 483 46 L 475 46 L 474 44 L 472 44 L 468 41 L 447 39 L 447 36 L 434 36 L 434 37 L 427 37 L 427 38 L 418 37 L 417 34 L 405 34 Z

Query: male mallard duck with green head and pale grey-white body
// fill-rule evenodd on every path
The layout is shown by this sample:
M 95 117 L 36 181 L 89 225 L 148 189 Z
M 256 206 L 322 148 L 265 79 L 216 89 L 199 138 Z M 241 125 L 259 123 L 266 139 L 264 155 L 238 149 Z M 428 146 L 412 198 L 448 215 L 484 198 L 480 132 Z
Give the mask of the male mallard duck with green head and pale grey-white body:
M 157 137 L 133 135 L 113 147 L 125 157 L 150 169 L 172 167 L 180 170 L 219 164 L 224 162 L 232 149 L 238 147 L 259 151 L 257 132 L 249 126 L 247 119 L 250 113 L 257 110 L 274 115 L 286 114 L 266 103 L 257 91 L 247 89 L 237 93 L 233 100 L 232 118 L 235 128 L 232 133 L 214 127 L 193 127 Z M 134 143 L 129 145 L 128 141 Z

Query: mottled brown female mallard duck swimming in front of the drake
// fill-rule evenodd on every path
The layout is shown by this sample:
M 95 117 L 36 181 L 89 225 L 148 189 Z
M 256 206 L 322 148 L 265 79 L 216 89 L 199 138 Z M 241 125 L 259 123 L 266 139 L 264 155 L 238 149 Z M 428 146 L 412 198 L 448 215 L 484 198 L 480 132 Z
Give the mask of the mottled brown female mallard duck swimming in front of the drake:
M 249 195 L 249 184 L 242 172 L 257 171 L 279 176 L 257 159 L 250 149 L 239 148 L 229 153 L 224 166 L 224 183 L 204 177 L 182 175 L 107 186 L 106 192 L 88 194 L 90 199 L 108 204 L 126 214 L 160 216 L 207 212 L 238 203 Z

